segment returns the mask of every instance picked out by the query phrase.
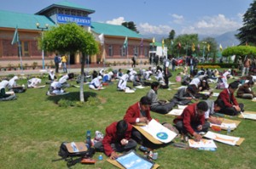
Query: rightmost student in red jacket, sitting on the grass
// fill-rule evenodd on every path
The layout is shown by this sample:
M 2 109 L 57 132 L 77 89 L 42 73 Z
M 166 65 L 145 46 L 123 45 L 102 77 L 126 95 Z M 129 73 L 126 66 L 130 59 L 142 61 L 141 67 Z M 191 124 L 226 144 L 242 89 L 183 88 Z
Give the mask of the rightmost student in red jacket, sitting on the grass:
M 238 104 L 234 93 L 238 88 L 239 82 L 231 82 L 228 88 L 225 88 L 218 95 L 218 99 L 224 101 L 224 107 L 219 110 L 219 113 L 223 113 L 225 115 L 237 115 L 241 111 L 243 111 L 244 104 Z

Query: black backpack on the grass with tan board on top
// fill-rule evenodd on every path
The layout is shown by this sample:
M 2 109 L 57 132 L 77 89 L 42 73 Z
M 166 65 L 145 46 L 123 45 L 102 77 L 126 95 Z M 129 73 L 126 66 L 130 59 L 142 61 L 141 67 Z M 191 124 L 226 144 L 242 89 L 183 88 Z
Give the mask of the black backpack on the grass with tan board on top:
M 92 147 L 87 148 L 84 142 L 63 142 L 61 143 L 58 155 L 61 159 L 54 160 L 67 161 L 67 166 L 73 166 L 80 162 L 83 158 L 91 158 L 95 154 L 95 149 Z M 73 160 L 73 157 L 79 157 Z

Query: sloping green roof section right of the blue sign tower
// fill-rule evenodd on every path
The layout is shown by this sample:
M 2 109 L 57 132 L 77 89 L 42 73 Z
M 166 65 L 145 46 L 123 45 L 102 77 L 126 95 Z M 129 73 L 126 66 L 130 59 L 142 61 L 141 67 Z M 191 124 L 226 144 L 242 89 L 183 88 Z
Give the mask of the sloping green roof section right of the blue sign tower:
M 108 36 L 142 38 L 142 35 L 138 34 L 135 31 L 131 31 L 124 25 L 111 25 L 98 22 L 91 22 L 91 29 L 92 31 L 98 34 L 103 33 L 104 35 Z

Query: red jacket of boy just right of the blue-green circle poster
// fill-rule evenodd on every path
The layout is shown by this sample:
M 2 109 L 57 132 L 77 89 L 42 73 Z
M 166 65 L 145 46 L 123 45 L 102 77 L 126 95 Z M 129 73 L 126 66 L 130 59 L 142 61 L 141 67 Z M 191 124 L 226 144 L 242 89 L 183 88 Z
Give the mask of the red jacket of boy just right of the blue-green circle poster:
M 193 134 L 195 131 L 191 127 L 191 124 L 198 124 L 203 125 L 205 123 L 205 115 L 198 115 L 196 117 L 195 110 L 196 110 L 196 104 L 190 104 L 188 105 L 184 110 L 183 114 L 177 116 L 173 122 L 176 124 L 177 121 L 183 121 L 183 127 L 186 129 L 187 132 L 190 134 Z

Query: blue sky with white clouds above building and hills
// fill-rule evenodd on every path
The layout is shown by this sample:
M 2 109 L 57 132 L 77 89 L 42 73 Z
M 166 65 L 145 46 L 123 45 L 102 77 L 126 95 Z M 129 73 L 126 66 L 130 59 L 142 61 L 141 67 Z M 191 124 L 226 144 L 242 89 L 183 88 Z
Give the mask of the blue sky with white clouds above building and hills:
M 35 14 L 53 3 L 65 0 L 0 0 L 1 10 Z M 196 33 L 221 35 L 242 26 L 242 16 L 253 0 L 68 0 L 95 10 L 94 22 L 121 25 L 133 21 L 142 35 L 164 37 Z

